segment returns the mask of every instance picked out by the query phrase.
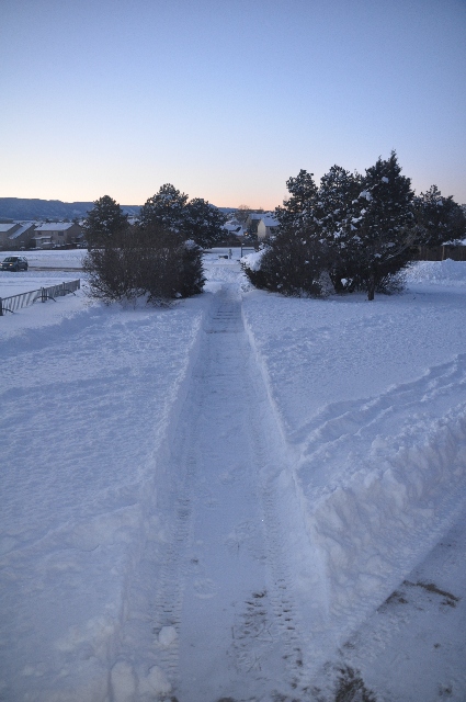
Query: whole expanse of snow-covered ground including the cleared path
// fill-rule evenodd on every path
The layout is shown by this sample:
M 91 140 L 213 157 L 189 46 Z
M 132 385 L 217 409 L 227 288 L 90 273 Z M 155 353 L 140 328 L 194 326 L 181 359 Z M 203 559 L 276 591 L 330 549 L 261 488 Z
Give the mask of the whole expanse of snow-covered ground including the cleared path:
M 312 301 L 238 254 L 0 318 L 1 700 L 466 699 L 466 264 Z

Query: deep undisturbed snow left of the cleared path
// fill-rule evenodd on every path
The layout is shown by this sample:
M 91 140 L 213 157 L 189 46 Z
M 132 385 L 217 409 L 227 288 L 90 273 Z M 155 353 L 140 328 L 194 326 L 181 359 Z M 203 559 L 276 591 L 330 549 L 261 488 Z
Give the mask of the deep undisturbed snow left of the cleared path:
M 2 318 L 3 699 L 106 699 L 206 304 Z

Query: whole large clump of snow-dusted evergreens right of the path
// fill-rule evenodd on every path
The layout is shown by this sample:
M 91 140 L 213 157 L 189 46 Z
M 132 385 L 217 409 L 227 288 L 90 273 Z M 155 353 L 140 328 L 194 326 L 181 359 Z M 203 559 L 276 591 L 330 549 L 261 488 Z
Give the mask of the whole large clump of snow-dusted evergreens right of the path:
M 333 166 L 317 186 L 314 173 L 300 170 L 286 186 L 277 234 L 259 267 L 245 265 L 254 285 L 284 295 L 365 291 L 374 299 L 400 288 L 416 247 L 466 237 L 463 208 L 436 185 L 414 195 L 395 151 L 364 176 Z

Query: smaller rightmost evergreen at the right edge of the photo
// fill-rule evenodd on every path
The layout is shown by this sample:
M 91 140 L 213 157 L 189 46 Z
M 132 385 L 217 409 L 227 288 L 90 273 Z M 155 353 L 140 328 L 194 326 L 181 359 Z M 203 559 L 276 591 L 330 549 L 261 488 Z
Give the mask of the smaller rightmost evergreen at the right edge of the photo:
M 464 239 L 466 217 L 453 196 L 444 197 L 436 185 L 414 197 L 414 214 L 420 233 L 417 244 L 440 246 Z

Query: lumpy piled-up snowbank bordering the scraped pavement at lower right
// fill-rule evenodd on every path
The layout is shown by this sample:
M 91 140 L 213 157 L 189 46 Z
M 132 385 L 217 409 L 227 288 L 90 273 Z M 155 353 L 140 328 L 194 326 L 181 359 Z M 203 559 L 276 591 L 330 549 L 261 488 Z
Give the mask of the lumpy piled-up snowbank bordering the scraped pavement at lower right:
M 341 642 L 428 554 L 465 500 L 466 401 L 442 419 L 414 416 L 397 435 L 378 430 L 346 458 L 341 441 L 340 479 L 323 490 L 314 485 L 315 460 L 297 471 Z

